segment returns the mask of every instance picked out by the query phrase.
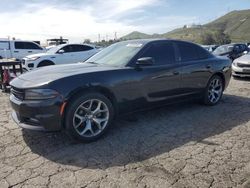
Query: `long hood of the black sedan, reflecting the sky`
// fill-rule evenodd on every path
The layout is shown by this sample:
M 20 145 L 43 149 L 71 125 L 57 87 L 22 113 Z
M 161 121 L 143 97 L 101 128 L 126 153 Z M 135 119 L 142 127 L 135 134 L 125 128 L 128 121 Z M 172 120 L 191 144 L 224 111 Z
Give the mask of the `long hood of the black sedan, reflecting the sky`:
M 100 66 L 90 63 L 53 65 L 24 73 L 13 79 L 10 85 L 17 88 L 34 88 L 65 77 L 114 69 L 118 69 L 118 67 Z

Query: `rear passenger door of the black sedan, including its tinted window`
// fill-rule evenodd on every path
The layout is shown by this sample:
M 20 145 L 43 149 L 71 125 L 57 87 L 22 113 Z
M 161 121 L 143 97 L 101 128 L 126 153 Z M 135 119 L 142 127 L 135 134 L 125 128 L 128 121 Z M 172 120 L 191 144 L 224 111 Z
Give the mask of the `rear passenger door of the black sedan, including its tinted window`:
M 198 45 L 176 41 L 181 64 L 181 92 L 184 95 L 201 92 L 211 76 L 212 55 Z

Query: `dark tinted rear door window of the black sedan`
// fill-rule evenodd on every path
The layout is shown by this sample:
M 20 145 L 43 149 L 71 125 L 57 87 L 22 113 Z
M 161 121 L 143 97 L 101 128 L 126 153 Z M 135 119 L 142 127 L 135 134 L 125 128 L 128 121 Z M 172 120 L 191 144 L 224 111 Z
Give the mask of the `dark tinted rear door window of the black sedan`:
M 207 59 L 211 56 L 207 50 L 192 43 L 177 42 L 177 46 L 180 52 L 181 61 Z

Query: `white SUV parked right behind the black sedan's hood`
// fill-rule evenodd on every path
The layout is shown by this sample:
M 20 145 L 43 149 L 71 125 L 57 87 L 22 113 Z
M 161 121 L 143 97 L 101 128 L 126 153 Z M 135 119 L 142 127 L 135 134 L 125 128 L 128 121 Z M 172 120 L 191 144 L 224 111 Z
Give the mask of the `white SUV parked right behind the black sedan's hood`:
M 62 44 L 46 53 L 29 55 L 22 59 L 25 70 L 30 71 L 48 65 L 62 65 L 85 61 L 97 52 L 97 48 L 87 44 Z

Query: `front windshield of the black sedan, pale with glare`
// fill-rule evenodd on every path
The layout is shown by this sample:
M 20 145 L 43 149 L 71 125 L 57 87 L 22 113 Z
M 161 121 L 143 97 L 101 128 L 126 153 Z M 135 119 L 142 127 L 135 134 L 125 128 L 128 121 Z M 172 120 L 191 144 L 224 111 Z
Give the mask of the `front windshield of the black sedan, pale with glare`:
M 126 41 L 113 44 L 89 58 L 86 62 L 109 66 L 124 66 L 142 49 L 140 42 Z

